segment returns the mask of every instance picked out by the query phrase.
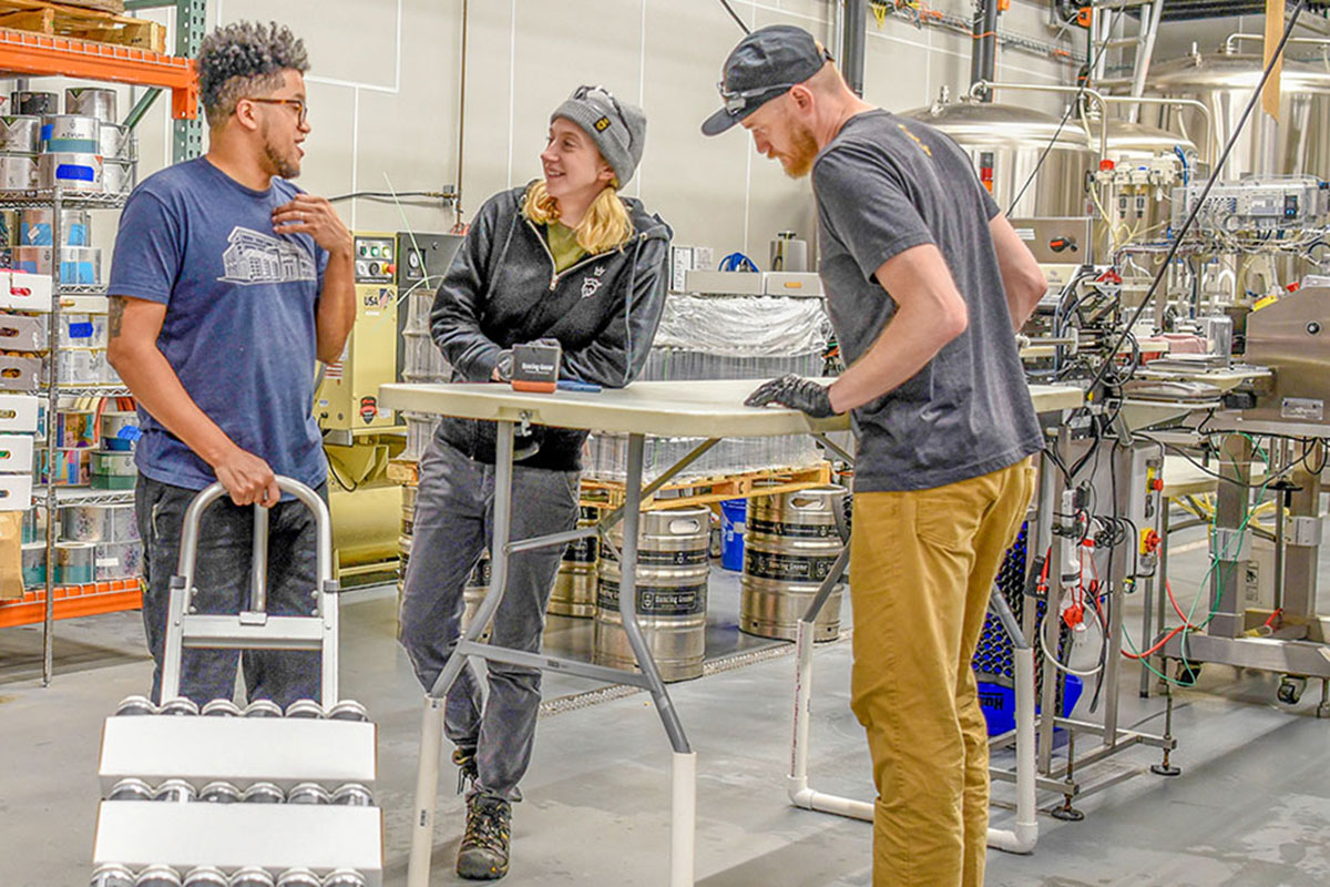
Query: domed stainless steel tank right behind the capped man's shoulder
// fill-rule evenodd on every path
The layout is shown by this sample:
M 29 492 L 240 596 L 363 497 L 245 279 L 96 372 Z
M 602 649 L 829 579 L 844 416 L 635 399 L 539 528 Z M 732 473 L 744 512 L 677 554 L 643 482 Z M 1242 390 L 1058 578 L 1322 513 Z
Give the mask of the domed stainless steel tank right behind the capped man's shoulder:
M 1075 120 L 1059 126 L 1059 117 L 1028 108 L 970 100 L 950 102 L 946 97 L 900 116 L 926 122 L 955 140 L 980 177 L 991 180 L 994 199 L 1008 215 L 1085 214 L 1085 174 L 1093 169 L 1096 157 L 1089 137 Z M 1049 142 L 1048 158 L 1012 207 L 1012 199 Z

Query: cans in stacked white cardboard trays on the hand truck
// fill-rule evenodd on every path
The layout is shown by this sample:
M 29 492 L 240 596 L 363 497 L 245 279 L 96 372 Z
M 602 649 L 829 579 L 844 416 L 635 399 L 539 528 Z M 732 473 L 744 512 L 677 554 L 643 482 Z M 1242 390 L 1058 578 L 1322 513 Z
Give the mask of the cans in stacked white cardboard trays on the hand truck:
M 92 887 L 379 887 L 376 741 L 354 701 L 122 699 Z

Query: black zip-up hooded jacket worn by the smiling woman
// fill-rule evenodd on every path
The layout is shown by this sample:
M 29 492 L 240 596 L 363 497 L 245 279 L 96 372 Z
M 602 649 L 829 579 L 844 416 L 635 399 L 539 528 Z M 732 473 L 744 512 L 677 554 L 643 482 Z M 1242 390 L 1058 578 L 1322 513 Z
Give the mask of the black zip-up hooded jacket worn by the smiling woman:
M 633 222 L 628 243 L 556 273 L 544 229 L 521 214 L 525 193 L 515 188 L 485 201 L 435 295 L 430 331 L 452 382 L 489 382 L 501 350 L 557 339 L 561 379 L 626 386 L 646 363 L 665 306 L 673 231 L 640 201 L 622 198 Z M 440 434 L 493 464 L 492 422 L 444 419 Z M 581 468 L 585 431 L 536 427 L 533 438 L 539 449 L 523 465 Z

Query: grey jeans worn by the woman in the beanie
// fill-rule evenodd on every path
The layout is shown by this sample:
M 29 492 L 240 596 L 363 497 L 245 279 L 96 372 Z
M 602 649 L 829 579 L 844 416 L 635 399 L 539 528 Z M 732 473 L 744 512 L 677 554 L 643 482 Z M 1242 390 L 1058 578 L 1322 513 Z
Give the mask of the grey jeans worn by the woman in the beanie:
M 512 540 L 560 533 L 577 525 L 576 471 L 513 468 Z M 435 438 L 420 459 L 411 560 L 402 596 L 402 645 L 426 690 L 460 634 L 463 588 L 493 535 L 495 467 L 468 459 Z M 491 644 L 540 650 L 545 604 L 559 572 L 563 547 L 513 555 L 508 582 L 495 613 Z M 540 672 L 487 662 L 489 694 L 464 668 L 448 692 L 446 733 L 476 755 L 476 790 L 520 801 L 517 782 L 531 763 L 540 709 Z

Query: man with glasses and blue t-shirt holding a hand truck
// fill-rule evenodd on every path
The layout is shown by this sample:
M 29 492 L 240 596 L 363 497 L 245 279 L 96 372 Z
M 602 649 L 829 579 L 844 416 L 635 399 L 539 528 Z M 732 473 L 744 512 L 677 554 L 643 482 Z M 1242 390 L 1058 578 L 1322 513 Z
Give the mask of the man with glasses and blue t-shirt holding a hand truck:
M 144 181 L 120 219 L 109 352 L 138 400 L 134 504 L 144 539 L 144 626 L 161 693 L 169 582 L 194 495 L 219 480 L 230 500 L 203 517 L 200 612 L 249 606 L 253 507 L 269 508 L 267 612 L 315 605 L 314 516 L 275 476 L 325 491 L 314 364 L 336 360 L 355 320 L 352 241 L 299 176 L 305 45 L 275 23 L 218 28 L 202 45 L 207 154 Z M 186 650 L 181 692 L 230 698 L 237 652 Z M 249 698 L 319 698 L 319 654 L 249 650 Z

